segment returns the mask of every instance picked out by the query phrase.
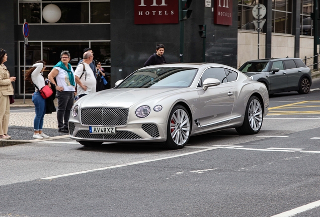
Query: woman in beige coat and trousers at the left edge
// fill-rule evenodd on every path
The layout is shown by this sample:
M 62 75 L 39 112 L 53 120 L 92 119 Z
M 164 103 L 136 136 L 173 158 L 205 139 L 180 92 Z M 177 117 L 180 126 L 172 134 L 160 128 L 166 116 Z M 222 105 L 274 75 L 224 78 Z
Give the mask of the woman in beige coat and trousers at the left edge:
M 7 51 L 0 48 L 0 139 L 10 139 L 8 135 L 10 99 L 9 95 L 14 94 L 12 82 L 16 77 L 10 77 L 7 67 L 4 65 L 8 59 Z

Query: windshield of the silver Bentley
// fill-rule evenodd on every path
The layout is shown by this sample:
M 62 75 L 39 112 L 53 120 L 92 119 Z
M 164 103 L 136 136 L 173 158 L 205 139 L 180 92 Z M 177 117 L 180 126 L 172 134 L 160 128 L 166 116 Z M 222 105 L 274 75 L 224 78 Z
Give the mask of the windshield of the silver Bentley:
M 189 87 L 196 76 L 196 68 L 159 67 L 140 69 L 116 88 Z

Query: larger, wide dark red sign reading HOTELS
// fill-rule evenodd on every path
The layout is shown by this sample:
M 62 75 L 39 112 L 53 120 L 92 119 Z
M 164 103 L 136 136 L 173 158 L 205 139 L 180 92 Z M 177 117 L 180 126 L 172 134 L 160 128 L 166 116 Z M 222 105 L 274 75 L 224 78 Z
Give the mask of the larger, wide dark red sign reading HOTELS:
M 179 23 L 178 0 L 134 0 L 134 24 Z

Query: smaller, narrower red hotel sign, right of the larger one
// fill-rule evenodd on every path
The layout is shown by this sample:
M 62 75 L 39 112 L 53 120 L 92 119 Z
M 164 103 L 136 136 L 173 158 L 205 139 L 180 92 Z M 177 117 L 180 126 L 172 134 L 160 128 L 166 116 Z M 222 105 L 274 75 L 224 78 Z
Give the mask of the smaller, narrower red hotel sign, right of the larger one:
M 214 1 L 214 24 L 232 25 L 232 0 Z

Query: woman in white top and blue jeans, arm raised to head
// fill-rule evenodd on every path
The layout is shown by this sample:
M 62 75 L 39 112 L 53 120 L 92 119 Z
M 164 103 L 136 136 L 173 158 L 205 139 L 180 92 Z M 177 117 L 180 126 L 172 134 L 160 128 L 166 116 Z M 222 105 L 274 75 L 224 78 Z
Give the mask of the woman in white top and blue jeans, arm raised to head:
M 37 61 L 35 64 L 33 64 L 32 68 L 30 68 L 26 72 L 25 80 L 30 81 L 35 86 L 37 86 L 39 89 L 44 87 L 46 85 L 44 77 L 42 76 L 42 72 L 46 68 L 45 62 L 42 60 Z M 38 88 L 35 87 L 35 92 L 32 94 L 32 102 L 35 106 L 36 116 L 33 121 L 33 138 L 34 139 L 43 139 L 43 138 L 49 138 L 49 136 L 45 135 L 42 132 L 42 126 L 43 126 L 43 118 L 46 114 L 46 100 L 41 96 L 40 91 Z

